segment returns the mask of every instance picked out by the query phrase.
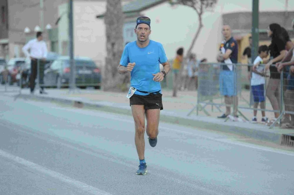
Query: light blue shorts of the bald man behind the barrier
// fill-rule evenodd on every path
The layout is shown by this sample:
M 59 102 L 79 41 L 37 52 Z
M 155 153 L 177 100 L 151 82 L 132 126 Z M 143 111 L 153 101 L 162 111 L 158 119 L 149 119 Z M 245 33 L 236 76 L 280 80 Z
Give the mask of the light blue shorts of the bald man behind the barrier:
M 220 71 L 219 78 L 220 94 L 227 96 L 237 95 L 237 90 L 235 89 L 235 79 L 233 71 Z

